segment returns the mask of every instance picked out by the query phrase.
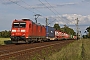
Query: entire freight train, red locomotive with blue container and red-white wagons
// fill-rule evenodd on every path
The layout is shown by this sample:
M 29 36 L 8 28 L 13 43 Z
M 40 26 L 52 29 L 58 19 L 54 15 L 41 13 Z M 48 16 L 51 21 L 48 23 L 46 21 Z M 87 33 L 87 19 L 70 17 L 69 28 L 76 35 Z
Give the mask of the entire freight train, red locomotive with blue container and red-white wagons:
M 53 27 L 34 23 L 30 19 L 15 19 L 12 23 L 12 43 L 30 43 L 61 39 L 70 39 L 70 35 L 57 31 Z M 76 36 L 73 36 L 73 39 L 76 39 Z

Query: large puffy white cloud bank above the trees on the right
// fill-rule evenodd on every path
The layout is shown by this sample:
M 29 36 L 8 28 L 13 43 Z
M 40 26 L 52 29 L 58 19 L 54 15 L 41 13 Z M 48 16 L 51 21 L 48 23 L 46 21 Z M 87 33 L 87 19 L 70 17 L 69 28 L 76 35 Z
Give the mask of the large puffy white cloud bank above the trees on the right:
M 79 25 L 90 25 L 90 15 L 83 16 L 83 15 L 78 15 L 78 14 L 63 14 L 63 15 L 58 15 L 58 16 L 50 16 L 50 17 L 56 19 L 55 23 L 58 22 L 61 25 L 63 24 L 75 25 L 76 18 L 79 19 Z

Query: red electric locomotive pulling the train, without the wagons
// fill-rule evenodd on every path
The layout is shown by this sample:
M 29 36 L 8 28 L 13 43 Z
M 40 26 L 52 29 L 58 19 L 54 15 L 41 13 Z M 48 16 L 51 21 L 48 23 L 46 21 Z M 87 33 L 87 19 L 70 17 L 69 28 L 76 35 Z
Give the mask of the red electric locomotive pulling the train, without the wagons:
M 14 20 L 11 28 L 12 43 L 29 43 L 46 40 L 45 26 L 30 19 Z

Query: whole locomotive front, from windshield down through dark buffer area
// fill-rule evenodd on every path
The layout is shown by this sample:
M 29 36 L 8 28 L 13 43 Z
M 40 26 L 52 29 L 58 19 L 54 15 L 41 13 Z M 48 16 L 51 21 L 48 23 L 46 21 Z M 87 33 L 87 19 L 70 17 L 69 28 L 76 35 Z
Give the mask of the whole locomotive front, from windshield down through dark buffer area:
M 25 40 L 26 22 L 13 22 L 11 40 Z

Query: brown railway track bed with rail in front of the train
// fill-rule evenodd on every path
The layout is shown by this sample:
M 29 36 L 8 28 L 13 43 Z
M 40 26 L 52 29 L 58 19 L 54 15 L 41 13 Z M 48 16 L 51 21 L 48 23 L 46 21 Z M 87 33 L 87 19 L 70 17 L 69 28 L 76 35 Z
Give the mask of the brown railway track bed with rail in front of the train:
M 53 41 L 35 44 L 8 45 L 0 48 L 0 59 L 8 60 L 11 57 L 19 58 L 23 55 L 32 55 L 37 50 L 50 46 L 61 46 L 72 42 L 73 40 Z

